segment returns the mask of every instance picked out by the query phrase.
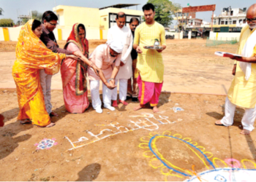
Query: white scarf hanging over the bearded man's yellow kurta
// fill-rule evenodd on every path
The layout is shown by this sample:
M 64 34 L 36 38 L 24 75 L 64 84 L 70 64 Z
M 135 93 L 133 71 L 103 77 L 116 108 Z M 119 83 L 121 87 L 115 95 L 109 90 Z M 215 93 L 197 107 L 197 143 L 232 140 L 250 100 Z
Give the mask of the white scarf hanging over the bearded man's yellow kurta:
M 256 45 L 256 31 L 254 31 L 252 35 L 249 36 L 249 38 L 247 39 L 246 44 L 244 45 L 244 49 L 242 51 L 242 55 L 248 58 L 252 57 L 252 53 L 255 48 L 255 45 Z M 239 66 L 245 74 L 244 79 L 248 81 L 249 76 L 251 76 L 251 73 L 252 73 L 252 63 L 245 63 L 245 62 L 239 61 Z

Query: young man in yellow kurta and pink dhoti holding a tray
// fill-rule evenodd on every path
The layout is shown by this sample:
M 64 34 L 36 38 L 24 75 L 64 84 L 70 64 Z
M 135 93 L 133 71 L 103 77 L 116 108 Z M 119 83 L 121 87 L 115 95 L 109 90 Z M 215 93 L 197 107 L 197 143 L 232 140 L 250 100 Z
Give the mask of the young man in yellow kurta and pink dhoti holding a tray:
M 154 45 L 154 40 L 160 41 L 163 50 L 165 44 L 165 28 L 154 20 L 154 5 L 145 4 L 143 12 L 146 22 L 141 23 L 135 30 L 133 48 L 138 52 L 138 86 L 140 89 L 138 99 L 140 106 L 135 111 L 150 103 L 153 112 L 158 112 L 157 104 L 162 90 L 164 79 L 164 63 L 162 61 L 162 50 L 146 50 L 144 46 Z

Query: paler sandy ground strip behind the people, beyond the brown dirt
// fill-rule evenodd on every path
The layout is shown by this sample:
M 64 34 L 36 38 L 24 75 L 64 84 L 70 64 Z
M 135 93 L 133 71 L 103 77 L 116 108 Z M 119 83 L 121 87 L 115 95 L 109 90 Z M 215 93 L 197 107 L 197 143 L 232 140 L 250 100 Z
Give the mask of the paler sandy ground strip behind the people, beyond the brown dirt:
M 105 41 L 89 41 L 93 52 L 97 44 Z M 59 41 L 64 47 L 65 41 Z M 163 91 L 226 94 L 233 79 L 233 60 L 219 58 L 215 51 L 236 52 L 237 44 L 222 44 L 206 47 L 205 39 L 167 40 L 163 55 L 165 75 Z M 12 52 L 2 52 L 4 50 Z M 15 61 L 15 42 L 0 41 L 1 87 L 15 88 L 12 79 L 12 65 Z M 52 88 L 62 90 L 61 74 L 53 76 Z

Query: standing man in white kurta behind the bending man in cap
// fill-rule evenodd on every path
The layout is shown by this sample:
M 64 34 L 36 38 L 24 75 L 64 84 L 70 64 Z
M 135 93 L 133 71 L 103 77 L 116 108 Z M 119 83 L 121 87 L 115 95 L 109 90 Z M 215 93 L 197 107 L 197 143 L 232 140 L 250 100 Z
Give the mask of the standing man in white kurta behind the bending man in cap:
M 124 12 L 118 12 L 116 16 L 116 25 L 108 30 L 108 41 L 118 40 L 124 45 L 121 54 L 121 63 L 118 74 L 116 76 L 116 84 L 119 81 L 119 102 L 127 105 L 127 82 L 132 77 L 132 31 L 125 26 L 126 17 Z M 112 100 L 114 107 L 117 107 L 117 88 L 113 90 Z

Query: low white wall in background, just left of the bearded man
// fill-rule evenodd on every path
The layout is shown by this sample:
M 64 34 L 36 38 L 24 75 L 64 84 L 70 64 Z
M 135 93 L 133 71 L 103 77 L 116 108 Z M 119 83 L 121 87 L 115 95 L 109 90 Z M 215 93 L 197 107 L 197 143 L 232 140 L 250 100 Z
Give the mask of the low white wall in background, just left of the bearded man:
M 218 34 L 218 35 L 217 35 Z M 236 39 L 237 41 L 239 41 L 239 37 L 240 37 L 240 33 L 236 33 L 236 32 L 219 32 L 219 33 L 215 33 L 215 32 L 210 32 L 210 40 L 218 40 L 218 41 L 231 41 L 233 39 Z

